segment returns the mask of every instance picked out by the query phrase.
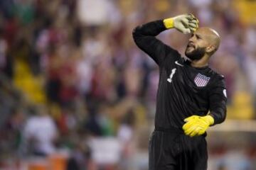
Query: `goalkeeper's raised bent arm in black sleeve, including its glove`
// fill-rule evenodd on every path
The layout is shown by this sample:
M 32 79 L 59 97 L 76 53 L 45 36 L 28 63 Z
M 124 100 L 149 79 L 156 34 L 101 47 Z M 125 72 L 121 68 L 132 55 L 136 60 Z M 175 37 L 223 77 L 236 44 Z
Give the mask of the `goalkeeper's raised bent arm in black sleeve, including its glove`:
M 191 33 L 198 27 L 198 20 L 193 15 L 184 14 L 174 18 L 153 21 L 145 23 L 142 26 L 137 26 L 133 31 L 134 42 L 137 46 L 146 52 L 157 64 L 164 61 L 166 55 L 179 55 L 178 52 L 155 36 L 162 31 L 170 28 L 176 28 L 181 33 Z

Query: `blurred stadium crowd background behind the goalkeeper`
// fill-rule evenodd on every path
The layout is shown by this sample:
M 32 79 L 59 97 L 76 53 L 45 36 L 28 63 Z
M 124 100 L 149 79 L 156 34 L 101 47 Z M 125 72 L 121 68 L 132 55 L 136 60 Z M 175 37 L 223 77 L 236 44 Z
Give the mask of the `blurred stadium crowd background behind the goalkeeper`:
M 181 13 L 222 38 L 228 118 L 208 169 L 256 169 L 255 0 L 1 0 L 0 169 L 148 169 L 159 70 L 132 29 Z M 183 55 L 188 36 L 159 38 Z

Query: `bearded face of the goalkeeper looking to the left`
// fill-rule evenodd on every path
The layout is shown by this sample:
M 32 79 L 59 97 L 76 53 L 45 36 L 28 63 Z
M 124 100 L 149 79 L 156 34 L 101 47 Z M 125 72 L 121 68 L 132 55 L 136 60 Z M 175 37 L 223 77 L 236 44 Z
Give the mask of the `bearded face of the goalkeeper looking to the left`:
M 186 57 L 190 60 L 200 60 L 206 53 L 206 45 L 200 32 L 192 33 L 185 51 Z

